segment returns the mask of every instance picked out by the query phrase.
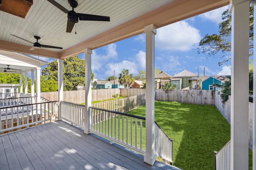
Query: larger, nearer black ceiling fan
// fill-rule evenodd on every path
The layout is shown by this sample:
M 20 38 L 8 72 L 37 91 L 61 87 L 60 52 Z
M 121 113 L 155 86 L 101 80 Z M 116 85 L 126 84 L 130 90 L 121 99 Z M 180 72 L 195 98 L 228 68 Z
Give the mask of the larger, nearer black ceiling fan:
M 58 4 L 54 0 L 48 0 L 51 4 L 62 10 L 64 13 L 68 14 L 68 23 L 67 23 L 67 33 L 71 33 L 75 23 L 79 20 L 83 21 L 110 21 L 110 18 L 108 16 L 96 16 L 96 15 L 90 15 L 90 14 L 80 14 L 74 12 L 74 8 L 78 6 L 78 3 L 76 0 L 68 0 L 68 3 L 72 7 L 72 11 L 68 11 L 66 8 Z

